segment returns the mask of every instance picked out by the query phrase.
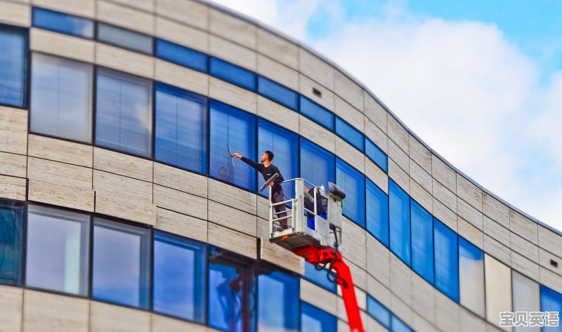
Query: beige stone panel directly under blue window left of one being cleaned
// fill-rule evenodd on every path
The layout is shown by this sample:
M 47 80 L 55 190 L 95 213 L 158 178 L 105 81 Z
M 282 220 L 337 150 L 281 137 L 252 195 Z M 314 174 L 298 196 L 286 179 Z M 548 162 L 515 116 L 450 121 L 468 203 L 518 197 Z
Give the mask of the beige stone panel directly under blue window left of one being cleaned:
M 183 171 L 172 166 L 154 163 L 154 182 L 200 197 L 207 197 L 207 180 L 203 175 Z

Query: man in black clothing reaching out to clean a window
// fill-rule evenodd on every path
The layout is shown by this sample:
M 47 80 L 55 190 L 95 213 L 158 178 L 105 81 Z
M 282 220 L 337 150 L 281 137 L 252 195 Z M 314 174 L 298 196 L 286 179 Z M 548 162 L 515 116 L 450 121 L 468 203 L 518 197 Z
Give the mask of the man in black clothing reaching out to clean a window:
M 273 203 L 279 203 L 281 201 L 285 201 L 285 194 L 283 194 L 283 188 L 281 187 L 281 182 L 284 181 L 283 175 L 281 175 L 281 172 L 279 171 L 279 168 L 277 168 L 277 166 L 271 164 L 271 161 L 273 160 L 273 152 L 269 150 L 263 152 L 261 156 L 261 164 L 256 163 L 253 160 L 247 159 L 246 157 L 242 157 L 242 155 L 240 155 L 239 153 L 233 153 L 233 157 L 239 158 L 249 166 L 256 168 L 256 170 L 259 171 L 261 175 L 263 175 L 264 181 L 267 181 L 269 178 L 271 178 L 273 174 L 279 173 L 279 177 L 269 182 L 269 186 L 271 187 L 271 201 L 273 201 Z M 285 205 L 280 204 L 275 206 L 275 212 L 277 212 L 277 218 L 287 217 L 287 213 L 285 211 L 286 211 Z M 282 229 L 288 228 L 287 219 L 280 220 L 280 225 L 281 225 L 280 228 Z

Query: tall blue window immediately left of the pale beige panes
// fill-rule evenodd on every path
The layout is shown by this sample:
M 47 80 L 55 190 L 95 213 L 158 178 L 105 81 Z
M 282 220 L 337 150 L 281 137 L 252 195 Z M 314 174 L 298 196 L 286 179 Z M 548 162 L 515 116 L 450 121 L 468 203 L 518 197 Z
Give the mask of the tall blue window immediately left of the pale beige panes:
M 433 220 L 435 237 L 435 287 L 459 302 L 459 257 L 457 233 Z

